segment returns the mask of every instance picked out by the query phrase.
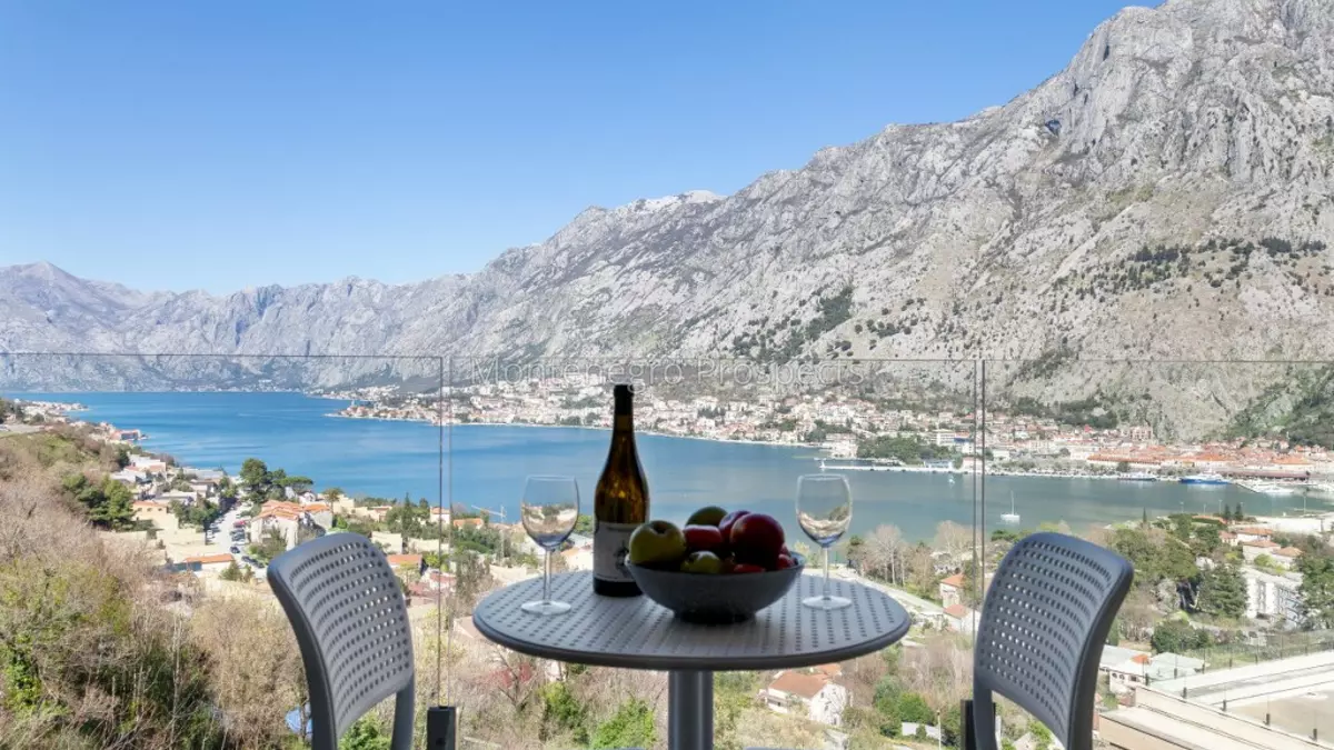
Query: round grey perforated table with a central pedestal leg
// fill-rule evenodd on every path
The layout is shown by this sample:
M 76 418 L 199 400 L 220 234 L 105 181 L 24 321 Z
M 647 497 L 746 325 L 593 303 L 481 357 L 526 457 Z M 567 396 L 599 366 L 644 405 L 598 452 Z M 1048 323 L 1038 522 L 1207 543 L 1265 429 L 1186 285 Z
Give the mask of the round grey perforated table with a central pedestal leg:
M 551 578 L 551 598 L 570 602 L 563 615 L 519 609 L 542 598 L 542 579 L 491 593 L 472 623 L 507 649 L 560 662 L 664 670 L 668 677 L 667 746 L 714 746 L 714 671 L 792 669 L 851 659 L 903 638 L 911 621 L 888 595 L 850 581 L 830 581 L 830 593 L 852 606 L 823 611 L 802 606 L 823 581 L 802 575 L 782 599 L 738 625 L 691 625 L 648 597 L 592 593 L 592 574 Z

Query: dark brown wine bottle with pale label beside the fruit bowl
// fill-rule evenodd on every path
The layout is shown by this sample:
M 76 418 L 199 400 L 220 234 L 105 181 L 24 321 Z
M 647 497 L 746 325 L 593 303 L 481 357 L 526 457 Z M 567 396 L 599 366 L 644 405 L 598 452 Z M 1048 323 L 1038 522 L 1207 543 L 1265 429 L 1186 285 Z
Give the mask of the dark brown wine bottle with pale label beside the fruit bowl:
M 626 554 L 630 532 L 648 520 L 648 482 L 635 450 L 635 392 L 616 386 L 612 394 L 611 450 L 594 491 L 592 590 L 604 597 L 638 597 Z

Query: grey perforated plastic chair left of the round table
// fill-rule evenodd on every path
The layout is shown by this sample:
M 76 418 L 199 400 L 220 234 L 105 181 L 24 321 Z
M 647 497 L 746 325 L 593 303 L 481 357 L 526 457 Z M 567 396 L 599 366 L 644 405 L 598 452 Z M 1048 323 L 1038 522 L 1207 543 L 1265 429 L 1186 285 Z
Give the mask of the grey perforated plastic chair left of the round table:
M 391 747 L 408 750 L 412 630 L 384 552 L 358 534 L 320 536 L 275 559 L 268 585 L 301 649 L 312 750 L 336 750 L 343 733 L 390 695 L 398 695 Z

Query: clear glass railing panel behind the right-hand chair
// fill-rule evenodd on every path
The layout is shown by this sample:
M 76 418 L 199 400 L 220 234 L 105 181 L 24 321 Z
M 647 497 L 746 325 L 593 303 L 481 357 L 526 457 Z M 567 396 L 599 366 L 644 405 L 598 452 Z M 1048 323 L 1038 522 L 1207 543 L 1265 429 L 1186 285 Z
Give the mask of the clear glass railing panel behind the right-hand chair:
M 1102 738 L 1206 743 L 1206 726 L 1219 741 L 1327 743 L 1330 367 L 1046 358 L 984 368 L 987 569 L 1035 530 L 1135 566 L 1099 669 Z M 1033 725 L 1006 706 L 1002 727 L 1019 742 Z

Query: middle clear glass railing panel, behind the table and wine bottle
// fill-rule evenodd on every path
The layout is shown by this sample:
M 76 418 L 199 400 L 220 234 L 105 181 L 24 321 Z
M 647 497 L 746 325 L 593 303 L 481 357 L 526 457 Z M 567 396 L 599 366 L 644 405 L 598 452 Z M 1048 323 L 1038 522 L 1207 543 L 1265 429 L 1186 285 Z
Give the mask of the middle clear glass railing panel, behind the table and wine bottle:
M 786 670 L 786 677 L 780 670 L 716 675 L 718 743 L 820 747 L 854 735 L 888 742 L 919 727 L 934 738 L 938 714 L 946 742 L 954 739 L 958 699 L 971 685 L 970 645 L 959 633 L 971 623 L 956 599 L 976 542 L 974 363 L 459 358 L 451 372 L 450 486 L 456 507 L 484 508 L 492 526 L 514 523 L 523 480 L 532 474 L 574 475 L 582 512 L 591 515 L 610 444 L 611 387 L 620 382 L 635 386 L 636 442 L 654 519 L 683 524 L 714 504 L 766 512 L 784 527 L 790 548 L 818 570 L 818 547 L 796 523 L 798 478 L 844 475 L 854 511 L 848 534 L 832 547 L 834 575 L 899 599 L 918 623 L 912 645 L 844 665 Z M 592 565 L 591 518 L 579 523 L 556 556 L 558 570 Z M 492 585 L 538 575 L 535 544 L 519 528 L 510 540 L 522 551 L 508 563 L 488 558 Z M 482 689 L 498 669 L 487 659 L 515 657 L 496 657 L 499 650 L 486 643 L 478 649 L 448 678 L 460 685 L 451 695 L 474 741 L 508 746 L 520 733 L 538 733 L 550 746 L 587 746 L 599 731 L 630 725 L 640 734 L 616 735 L 616 742 L 666 741 L 663 674 L 539 665 L 530 667 L 542 677 L 526 689 L 520 707 Z M 790 693 L 788 682 L 832 685 L 838 705 Z M 636 718 L 646 709 L 651 722 Z

